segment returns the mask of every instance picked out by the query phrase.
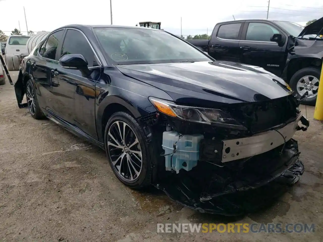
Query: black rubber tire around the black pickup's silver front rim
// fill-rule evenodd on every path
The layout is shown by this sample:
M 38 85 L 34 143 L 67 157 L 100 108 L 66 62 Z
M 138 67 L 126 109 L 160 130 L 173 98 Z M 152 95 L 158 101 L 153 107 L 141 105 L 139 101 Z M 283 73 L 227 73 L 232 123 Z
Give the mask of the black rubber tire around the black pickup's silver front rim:
M 289 86 L 293 89 L 293 91 L 295 91 L 297 93 L 297 97 L 299 98 L 299 97 L 301 97 L 301 95 L 297 91 L 297 83 L 298 83 L 298 81 L 302 77 L 305 77 L 305 76 L 314 76 L 319 80 L 320 75 L 321 75 L 321 68 L 314 67 L 314 66 L 305 67 L 305 68 L 300 69 L 299 71 L 297 71 L 292 76 L 292 78 L 290 79 L 290 82 L 289 82 Z M 310 80 L 313 80 L 313 79 L 310 78 Z M 317 93 L 317 91 L 318 91 L 318 83 L 314 85 L 314 88 L 316 89 L 315 91 Z M 309 106 L 315 106 L 316 98 L 317 98 L 317 95 L 314 96 L 314 97 L 311 97 L 311 98 L 305 98 L 304 100 L 301 101 L 301 104 L 309 105 Z

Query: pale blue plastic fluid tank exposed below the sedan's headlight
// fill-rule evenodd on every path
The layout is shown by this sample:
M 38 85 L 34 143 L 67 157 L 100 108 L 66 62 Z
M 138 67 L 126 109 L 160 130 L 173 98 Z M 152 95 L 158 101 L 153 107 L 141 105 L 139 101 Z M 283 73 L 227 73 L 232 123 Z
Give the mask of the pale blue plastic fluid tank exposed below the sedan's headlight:
M 173 152 L 173 146 L 176 143 L 176 153 L 165 156 L 166 170 L 175 170 L 179 173 L 180 169 L 186 171 L 192 170 L 197 165 L 200 156 L 200 141 L 204 138 L 201 134 L 183 135 L 179 138 L 179 134 L 172 131 L 163 132 L 162 148 L 166 154 Z

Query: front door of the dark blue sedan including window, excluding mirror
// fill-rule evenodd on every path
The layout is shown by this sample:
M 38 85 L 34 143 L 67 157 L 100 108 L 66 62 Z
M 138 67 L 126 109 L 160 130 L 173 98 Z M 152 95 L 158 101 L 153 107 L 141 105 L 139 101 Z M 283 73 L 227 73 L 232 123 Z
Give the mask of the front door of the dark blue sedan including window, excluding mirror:
M 95 84 L 100 77 L 101 65 L 86 35 L 78 29 L 68 28 L 61 54 L 81 54 L 88 62 L 90 75 L 80 70 L 57 67 L 60 115 L 89 136 L 97 139 L 95 126 Z M 68 104 L 67 104 L 68 102 Z M 73 107 L 73 108 L 72 108 Z

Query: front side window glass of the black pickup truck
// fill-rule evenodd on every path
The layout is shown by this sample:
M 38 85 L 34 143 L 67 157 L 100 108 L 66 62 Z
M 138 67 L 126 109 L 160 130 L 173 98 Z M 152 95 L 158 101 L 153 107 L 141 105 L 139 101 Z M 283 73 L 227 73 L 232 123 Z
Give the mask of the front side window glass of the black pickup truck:
M 279 31 L 265 23 L 249 23 L 245 40 L 270 42 L 270 38 Z

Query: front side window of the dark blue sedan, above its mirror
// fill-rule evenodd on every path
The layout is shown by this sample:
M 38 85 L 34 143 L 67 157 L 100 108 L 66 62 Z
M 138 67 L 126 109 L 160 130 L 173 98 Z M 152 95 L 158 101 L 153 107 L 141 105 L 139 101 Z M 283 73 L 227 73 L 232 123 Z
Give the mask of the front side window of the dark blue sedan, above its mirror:
M 68 29 L 62 47 L 61 56 L 68 54 L 83 55 L 89 67 L 98 66 L 89 42 L 81 32 L 74 29 Z

